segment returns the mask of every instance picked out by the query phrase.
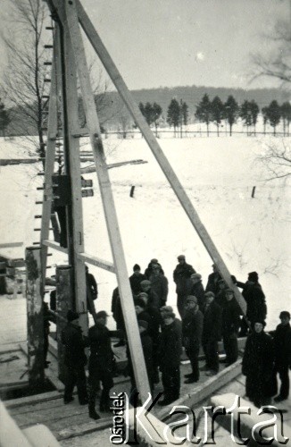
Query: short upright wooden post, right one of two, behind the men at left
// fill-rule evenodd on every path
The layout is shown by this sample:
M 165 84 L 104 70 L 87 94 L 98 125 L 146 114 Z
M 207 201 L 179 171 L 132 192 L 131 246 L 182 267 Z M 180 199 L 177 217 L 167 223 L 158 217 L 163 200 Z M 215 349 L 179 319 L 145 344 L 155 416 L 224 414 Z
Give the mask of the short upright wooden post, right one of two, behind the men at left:
M 56 276 L 56 311 L 60 318 L 56 320 L 56 337 L 58 345 L 58 375 L 64 382 L 64 346 L 62 344 L 62 329 L 66 325 L 67 312 L 74 308 L 73 303 L 73 272 L 71 266 L 57 266 Z M 64 321 L 65 320 L 65 321 Z

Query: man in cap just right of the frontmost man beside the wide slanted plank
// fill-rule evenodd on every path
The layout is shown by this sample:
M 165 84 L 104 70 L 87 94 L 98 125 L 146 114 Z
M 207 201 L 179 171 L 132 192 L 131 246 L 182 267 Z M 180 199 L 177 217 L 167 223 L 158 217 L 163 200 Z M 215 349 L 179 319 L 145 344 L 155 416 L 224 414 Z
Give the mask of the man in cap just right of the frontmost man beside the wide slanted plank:
M 189 295 L 186 301 L 186 312 L 182 321 L 182 333 L 187 357 L 191 362 L 192 372 L 185 375 L 185 384 L 194 384 L 199 380 L 198 355 L 201 345 L 204 316 L 199 310 L 198 299 Z

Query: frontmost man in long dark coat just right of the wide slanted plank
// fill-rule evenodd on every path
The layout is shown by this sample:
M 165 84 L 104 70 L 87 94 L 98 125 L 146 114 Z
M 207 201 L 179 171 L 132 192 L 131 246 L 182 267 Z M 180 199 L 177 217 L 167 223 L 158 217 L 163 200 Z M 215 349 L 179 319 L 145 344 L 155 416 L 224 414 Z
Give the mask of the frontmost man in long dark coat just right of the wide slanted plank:
M 169 405 L 179 399 L 180 372 L 179 360 L 182 352 L 181 333 L 175 325 L 175 314 L 163 316 L 164 328 L 161 333 L 159 347 L 160 369 L 162 371 L 162 386 L 164 398 L 159 405 Z

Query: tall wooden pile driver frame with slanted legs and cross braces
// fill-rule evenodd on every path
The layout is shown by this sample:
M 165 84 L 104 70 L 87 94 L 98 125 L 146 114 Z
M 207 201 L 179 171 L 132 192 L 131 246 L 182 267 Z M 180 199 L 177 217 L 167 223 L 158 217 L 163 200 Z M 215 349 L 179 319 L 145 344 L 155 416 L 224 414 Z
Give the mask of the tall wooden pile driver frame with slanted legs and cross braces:
M 190 222 L 204 243 L 213 262 L 218 266 L 220 274 L 228 286 L 235 292 L 235 297 L 245 315 L 245 300 L 237 287 L 232 283 L 229 270 L 224 264 L 220 253 L 214 246 L 212 239 L 204 224 L 200 221 L 191 201 L 187 197 L 177 175 L 171 168 L 166 156 L 162 152 L 153 132 L 145 122 L 137 104 L 134 102 L 129 89 L 121 78 L 111 56 L 108 54 L 96 29 L 87 16 L 79 0 L 45 0 L 54 20 L 54 55 L 52 63 L 51 90 L 49 95 L 49 109 L 46 140 L 46 168 L 45 191 L 41 223 L 41 277 L 40 291 L 45 290 L 46 257 L 47 249 L 57 249 L 68 253 L 69 264 L 73 271 L 73 291 L 76 310 L 81 314 L 80 322 L 83 331 L 87 331 L 87 302 L 86 279 L 84 262 L 104 268 L 117 275 L 118 287 L 121 294 L 121 307 L 123 310 L 129 350 L 137 380 L 137 389 L 140 392 L 141 401 L 148 398 L 150 387 L 145 369 L 145 359 L 141 347 L 137 318 L 135 314 L 132 292 L 129 286 L 129 274 L 126 267 L 125 256 L 121 243 L 121 234 L 114 207 L 112 186 L 108 175 L 108 166 L 104 156 L 104 145 L 101 138 L 100 124 L 96 114 L 94 94 L 91 88 L 87 59 L 85 55 L 81 28 L 96 51 L 104 68 L 125 105 L 129 109 L 134 122 L 142 132 L 145 141 L 151 148 L 158 164 L 162 168 L 172 190 L 179 198 L 180 205 L 184 208 Z M 79 138 L 84 134 L 79 128 L 78 115 L 78 91 L 77 80 L 81 89 L 87 121 L 87 133 L 90 139 L 96 174 L 100 193 L 103 201 L 104 215 L 107 231 L 111 243 L 113 264 L 85 252 L 83 238 L 81 172 L 79 161 Z M 52 206 L 52 176 L 54 175 L 54 158 L 58 134 L 58 102 L 61 98 L 62 106 L 62 139 L 65 162 L 65 174 L 70 178 L 71 203 L 67 207 L 68 217 L 68 249 L 49 240 L 49 226 Z

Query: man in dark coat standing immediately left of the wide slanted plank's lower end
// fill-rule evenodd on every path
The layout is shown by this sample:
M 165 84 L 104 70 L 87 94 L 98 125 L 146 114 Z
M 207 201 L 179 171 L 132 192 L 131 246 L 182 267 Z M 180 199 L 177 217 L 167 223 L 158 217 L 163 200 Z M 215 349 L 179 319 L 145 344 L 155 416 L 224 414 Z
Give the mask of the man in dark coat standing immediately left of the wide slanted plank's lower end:
M 89 417 L 98 419 L 96 413 L 96 392 L 99 381 L 103 390 L 100 398 L 100 411 L 110 411 L 109 392 L 113 386 L 114 354 L 112 352 L 110 331 L 106 327 L 107 314 L 104 310 L 97 312 L 96 325 L 90 327 L 88 340 L 90 347 L 89 358 Z

